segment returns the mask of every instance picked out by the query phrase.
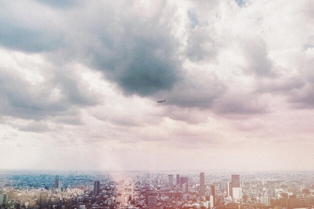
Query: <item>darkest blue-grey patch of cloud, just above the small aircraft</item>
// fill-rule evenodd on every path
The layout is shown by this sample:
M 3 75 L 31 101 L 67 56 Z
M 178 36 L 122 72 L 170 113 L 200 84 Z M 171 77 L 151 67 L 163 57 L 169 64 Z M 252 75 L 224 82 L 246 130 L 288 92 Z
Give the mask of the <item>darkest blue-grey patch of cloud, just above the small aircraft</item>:
M 151 95 L 170 90 L 179 79 L 180 63 L 174 57 L 169 40 L 134 40 L 133 57 L 124 66 L 117 65 L 109 78 L 115 80 L 127 94 Z M 122 58 L 120 58 L 122 59 Z M 110 69 L 113 70 L 113 69 Z

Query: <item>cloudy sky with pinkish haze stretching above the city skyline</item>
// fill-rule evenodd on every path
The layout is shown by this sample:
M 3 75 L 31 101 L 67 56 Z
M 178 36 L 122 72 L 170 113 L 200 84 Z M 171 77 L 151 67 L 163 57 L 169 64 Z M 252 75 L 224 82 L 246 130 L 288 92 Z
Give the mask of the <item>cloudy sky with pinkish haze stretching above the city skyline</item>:
M 0 4 L 1 168 L 313 169 L 312 0 Z

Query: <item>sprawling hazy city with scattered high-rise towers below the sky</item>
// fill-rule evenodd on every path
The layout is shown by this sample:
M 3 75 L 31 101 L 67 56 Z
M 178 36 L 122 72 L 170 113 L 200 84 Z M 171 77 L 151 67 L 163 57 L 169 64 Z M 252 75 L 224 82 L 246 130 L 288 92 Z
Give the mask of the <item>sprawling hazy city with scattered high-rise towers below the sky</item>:
M 59 175 L 54 175 L 57 173 Z M 314 208 L 314 171 L 195 173 L 2 171 L 12 209 Z

